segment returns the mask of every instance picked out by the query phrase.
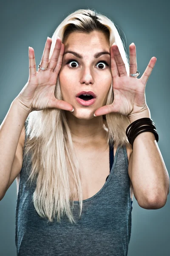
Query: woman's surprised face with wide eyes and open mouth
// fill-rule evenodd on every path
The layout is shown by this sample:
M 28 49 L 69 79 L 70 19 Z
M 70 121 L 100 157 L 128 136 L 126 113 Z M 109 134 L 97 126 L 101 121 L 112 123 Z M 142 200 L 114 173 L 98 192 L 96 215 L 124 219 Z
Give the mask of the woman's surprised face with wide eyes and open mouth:
M 65 52 L 59 72 L 63 100 L 73 106 L 74 112 L 71 114 L 79 119 L 91 119 L 96 109 L 106 105 L 111 87 L 109 42 L 102 32 L 72 32 L 64 45 Z M 93 93 L 93 96 L 77 97 L 79 94 Z

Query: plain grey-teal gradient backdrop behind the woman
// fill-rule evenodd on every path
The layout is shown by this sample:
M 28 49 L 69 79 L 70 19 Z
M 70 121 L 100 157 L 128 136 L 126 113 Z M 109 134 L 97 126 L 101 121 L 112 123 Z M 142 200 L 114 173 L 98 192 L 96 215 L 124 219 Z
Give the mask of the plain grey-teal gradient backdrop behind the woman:
M 136 44 L 137 64 L 141 75 L 150 58 L 157 62 L 146 85 L 146 101 L 159 134 L 159 148 L 167 170 L 170 169 L 170 85 L 169 24 L 170 3 L 143 1 L 3 1 L 0 6 L 0 124 L 13 99 L 28 81 L 28 47 L 40 63 L 47 36 L 77 9 L 95 9 L 119 26 L 129 54 L 129 44 Z M 125 35 L 124 35 L 125 33 Z M 126 42 L 127 40 L 127 42 Z M 139 76 L 140 78 L 141 76 Z M 16 181 L 0 201 L 0 255 L 15 256 Z M 157 210 L 139 207 L 133 199 L 132 234 L 128 256 L 170 255 L 170 198 Z

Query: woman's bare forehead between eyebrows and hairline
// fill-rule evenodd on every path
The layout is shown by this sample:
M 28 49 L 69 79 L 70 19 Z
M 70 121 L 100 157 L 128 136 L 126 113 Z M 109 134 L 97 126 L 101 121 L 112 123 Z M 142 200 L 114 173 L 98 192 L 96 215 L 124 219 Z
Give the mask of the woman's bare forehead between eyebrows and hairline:
M 109 49 L 109 41 L 103 32 L 92 31 L 87 32 L 71 32 L 70 35 L 64 40 L 65 49 L 68 47 L 78 48 L 105 48 Z M 83 48 L 82 48 L 83 49 Z

